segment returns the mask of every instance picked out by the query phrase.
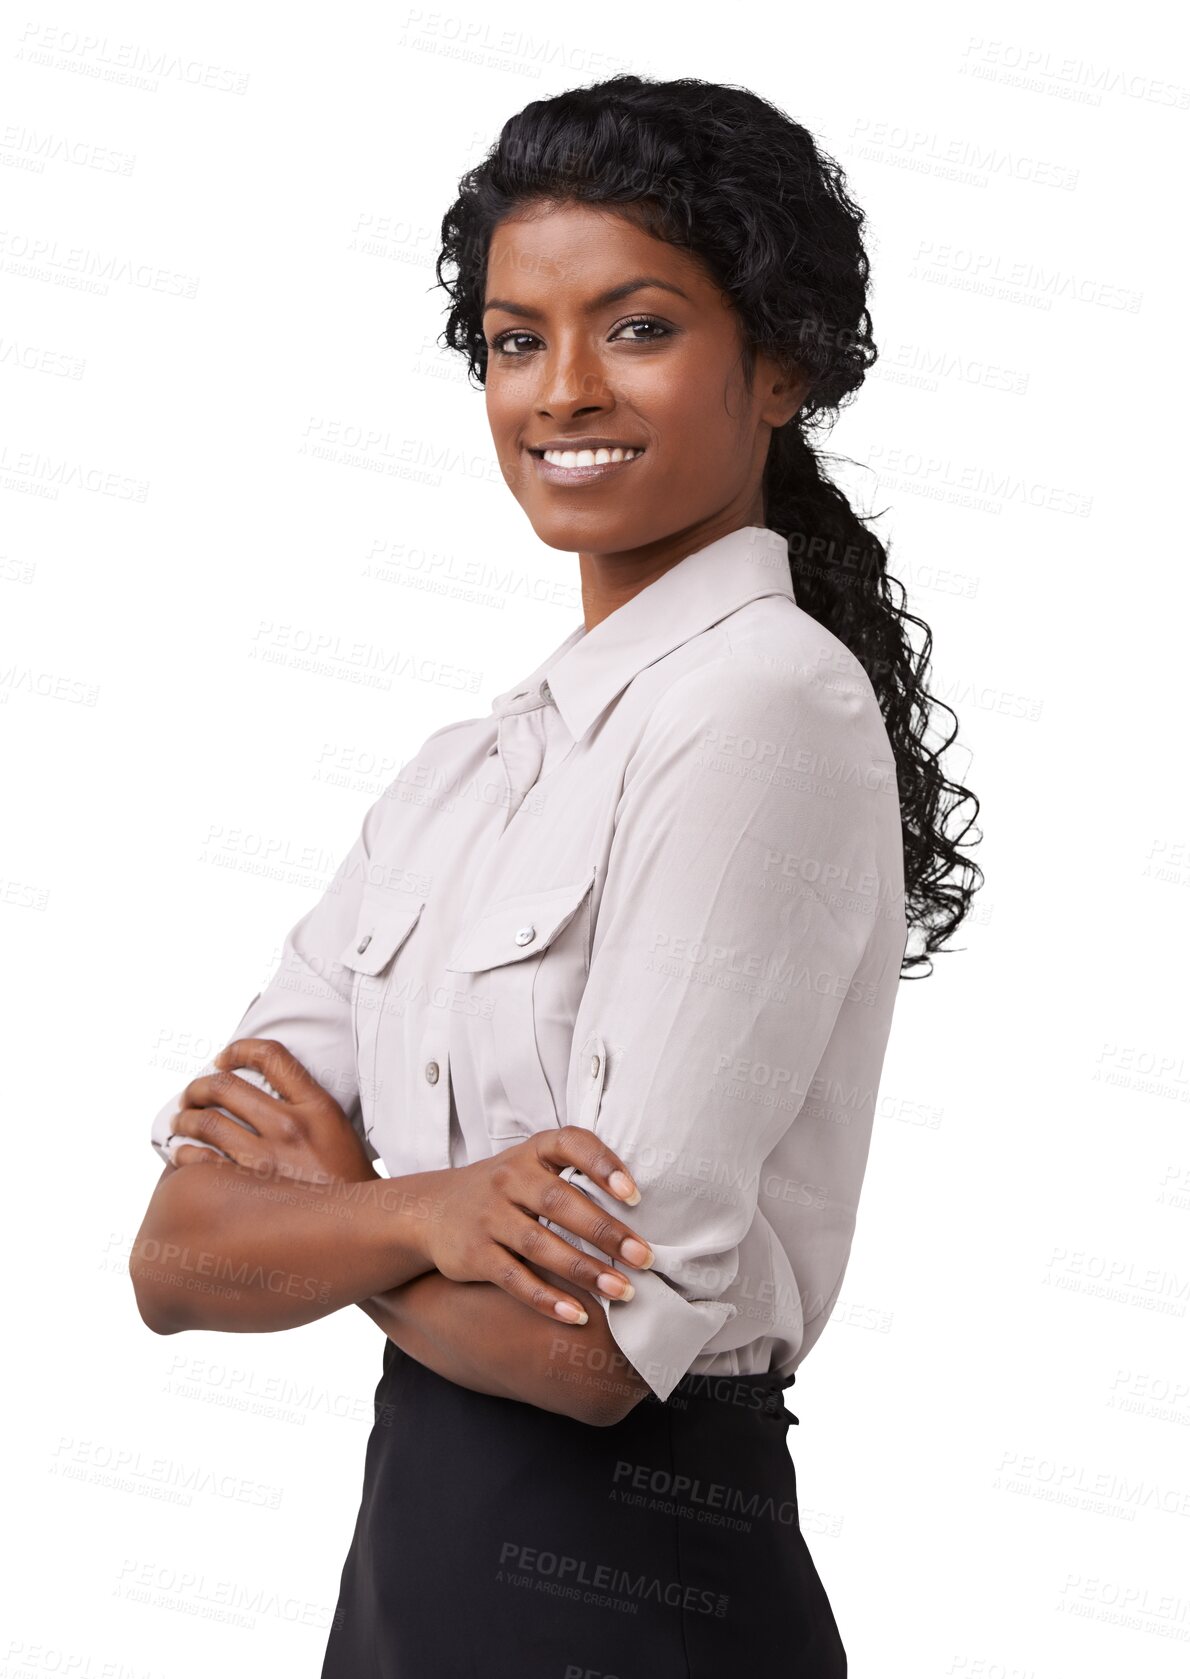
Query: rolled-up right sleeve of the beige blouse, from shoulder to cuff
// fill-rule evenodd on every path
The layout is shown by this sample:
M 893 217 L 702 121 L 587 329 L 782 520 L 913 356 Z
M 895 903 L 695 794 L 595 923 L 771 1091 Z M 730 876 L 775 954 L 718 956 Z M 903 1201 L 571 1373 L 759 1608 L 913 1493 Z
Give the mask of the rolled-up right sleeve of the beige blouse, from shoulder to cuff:
M 733 653 L 665 693 L 629 761 L 567 1118 L 623 1159 L 641 1200 L 562 1177 L 655 1249 L 651 1269 L 624 1266 L 633 1300 L 598 1298 L 658 1399 L 789 1310 L 762 1305 L 777 1266 L 760 1179 L 871 939 L 871 895 L 841 888 L 888 865 L 895 799 L 858 665 L 839 682 Z

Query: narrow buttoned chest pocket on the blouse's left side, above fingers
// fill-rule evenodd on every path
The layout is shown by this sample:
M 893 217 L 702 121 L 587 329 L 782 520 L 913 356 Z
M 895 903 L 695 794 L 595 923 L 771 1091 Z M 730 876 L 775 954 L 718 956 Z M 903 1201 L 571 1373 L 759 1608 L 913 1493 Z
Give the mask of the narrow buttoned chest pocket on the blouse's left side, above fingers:
M 371 1138 L 379 1098 L 401 1066 L 399 1034 L 404 1001 L 394 986 L 396 954 L 406 942 L 425 907 L 425 898 L 411 892 L 374 892 L 364 888 L 356 932 L 347 940 L 339 962 L 352 972 L 351 1029 L 356 1041 L 359 1108 L 364 1135 Z

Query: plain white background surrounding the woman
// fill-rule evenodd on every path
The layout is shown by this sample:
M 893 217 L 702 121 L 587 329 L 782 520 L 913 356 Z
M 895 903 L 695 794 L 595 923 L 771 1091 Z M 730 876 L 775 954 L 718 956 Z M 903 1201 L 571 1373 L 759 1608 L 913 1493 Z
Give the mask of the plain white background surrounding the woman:
M 869 213 L 883 358 L 829 447 L 984 804 L 789 1399 L 853 1679 L 1185 1672 L 1190 64 L 1158 17 L 10 13 L 0 1676 L 319 1672 L 381 1335 L 151 1335 L 149 1122 L 398 766 L 581 620 L 433 259 L 500 124 L 618 69 L 767 96 Z

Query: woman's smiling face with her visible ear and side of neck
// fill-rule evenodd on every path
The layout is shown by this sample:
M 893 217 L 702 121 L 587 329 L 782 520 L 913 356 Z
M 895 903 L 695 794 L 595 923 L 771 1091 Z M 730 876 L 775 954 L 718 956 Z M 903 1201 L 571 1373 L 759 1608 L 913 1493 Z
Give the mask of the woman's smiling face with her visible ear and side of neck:
M 739 317 L 686 252 L 606 210 L 525 208 L 492 237 L 483 334 L 500 468 L 549 547 L 628 554 L 764 524 L 769 438 L 807 386 L 759 358 L 747 393 Z M 641 453 L 586 475 L 534 453 L 584 438 Z

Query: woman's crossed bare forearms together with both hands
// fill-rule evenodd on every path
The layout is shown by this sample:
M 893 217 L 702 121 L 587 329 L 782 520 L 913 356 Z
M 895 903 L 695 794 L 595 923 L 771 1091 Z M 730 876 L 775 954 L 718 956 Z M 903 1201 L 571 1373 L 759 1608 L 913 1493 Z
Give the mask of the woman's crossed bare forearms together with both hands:
M 468 1167 L 383 1179 L 339 1103 L 284 1044 L 238 1039 L 217 1061 L 258 1068 L 280 1098 L 232 1071 L 186 1086 L 173 1133 L 227 1157 L 180 1145 L 158 1182 L 129 1263 L 149 1328 L 294 1328 L 356 1303 L 411 1357 L 482 1394 L 608 1425 L 648 1392 L 603 1308 L 587 1313 L 567 1293 L 624 1298 L 629 1279 L 539 1221 L 651 1264 L 629 1226 L 559 1180 L 581 1165 L 639 1200 L 592 1132 L 561 1127 Z M 198 1278 L 235 1286 L 195 1289 Z M 562 1321 L 559 1301 L 577 1305 L 582 1321 Z

